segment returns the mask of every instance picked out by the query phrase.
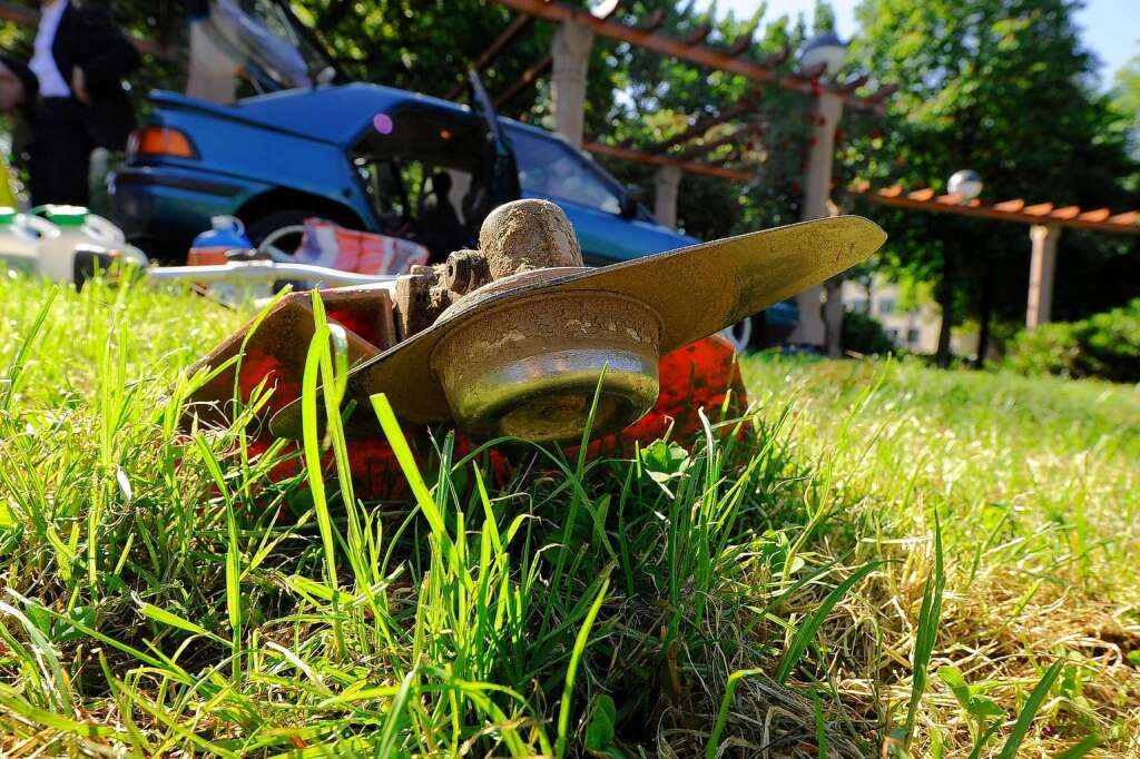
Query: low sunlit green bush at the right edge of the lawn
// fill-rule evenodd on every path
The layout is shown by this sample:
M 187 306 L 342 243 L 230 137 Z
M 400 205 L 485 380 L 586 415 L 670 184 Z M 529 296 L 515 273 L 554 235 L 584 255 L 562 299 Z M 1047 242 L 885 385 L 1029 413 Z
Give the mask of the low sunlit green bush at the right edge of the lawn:
M 1082 321 L 1023 332 L 1009 364 L 1023 374 L 1140 382 L 1140 297 Z

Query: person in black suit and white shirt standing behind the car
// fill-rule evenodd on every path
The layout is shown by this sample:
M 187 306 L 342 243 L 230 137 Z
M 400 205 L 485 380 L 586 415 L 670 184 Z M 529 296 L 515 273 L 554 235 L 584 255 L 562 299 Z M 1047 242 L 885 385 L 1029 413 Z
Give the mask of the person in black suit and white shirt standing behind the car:
M 43 0 L 28 67 L 39 82 L 31 149 L 32 203 L 87 205 L 91 152 L 121 150 L 135 129 L 123 79 L 141 64 L 106 10 Z

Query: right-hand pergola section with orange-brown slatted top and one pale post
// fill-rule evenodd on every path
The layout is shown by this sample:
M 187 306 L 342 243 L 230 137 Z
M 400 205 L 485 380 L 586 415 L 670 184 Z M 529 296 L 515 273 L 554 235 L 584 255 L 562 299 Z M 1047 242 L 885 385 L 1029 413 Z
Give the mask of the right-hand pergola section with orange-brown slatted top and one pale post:
M 878 205 L 1029 225 L 1033 256 L 1029 263 L 1029 293 L 1025 313 L 1025 326 L 1029 329 L 1049 321 L 1052 311 L 1057 242 L 1062 228 L 1140 235 L 1140 211 L 1123 213 L 1113 213 L 1108 209 L 1084 211 L 1076 205 L 1058 207 L 1052 203 L 1028 204 L 1021 198 L 984 203 L 978 199 L 966 201 L 960 195 L 939 195 L 929 187 L 907 193 L 901 185 L 874 189 L 868 182 L 854 186 L 852 191 Z

